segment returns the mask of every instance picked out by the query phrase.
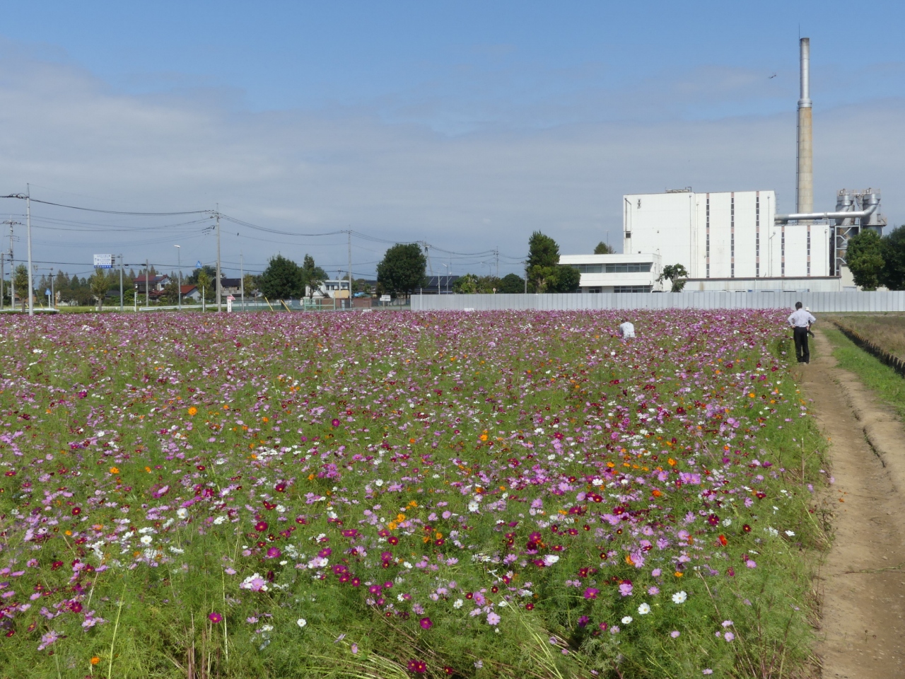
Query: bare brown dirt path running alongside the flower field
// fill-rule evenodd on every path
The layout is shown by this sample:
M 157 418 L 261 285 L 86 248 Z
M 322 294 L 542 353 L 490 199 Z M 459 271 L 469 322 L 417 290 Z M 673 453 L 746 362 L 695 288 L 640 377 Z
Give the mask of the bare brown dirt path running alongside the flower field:
M 835 483 L 835 539 L 820 572 L 824 679 L 905 677 L 905 429 L 821 332 L 801 383 L 814 399 Z

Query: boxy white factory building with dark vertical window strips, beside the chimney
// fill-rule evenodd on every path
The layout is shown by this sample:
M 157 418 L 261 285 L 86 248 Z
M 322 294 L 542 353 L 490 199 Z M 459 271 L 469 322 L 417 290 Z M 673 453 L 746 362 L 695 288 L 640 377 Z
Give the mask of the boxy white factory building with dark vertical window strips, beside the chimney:
M 833 292 L 831 225 L 776 223 L 774 191 L 623 196 L 623 253 L 563 255 L 582 292 L 657 292 L 662 266 L 688 271 L 687 292 Z M 643 271 L 642 271 L 643 269 Z M 848 283 L 851 285 L 852 283 Z

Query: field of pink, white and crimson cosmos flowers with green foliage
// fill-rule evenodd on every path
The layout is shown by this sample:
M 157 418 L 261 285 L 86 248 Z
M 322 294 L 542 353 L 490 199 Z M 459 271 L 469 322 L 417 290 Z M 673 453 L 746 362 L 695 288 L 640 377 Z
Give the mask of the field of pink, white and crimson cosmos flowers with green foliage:
M 784 316 L 5 318 L 0 674 L 794 676 Z

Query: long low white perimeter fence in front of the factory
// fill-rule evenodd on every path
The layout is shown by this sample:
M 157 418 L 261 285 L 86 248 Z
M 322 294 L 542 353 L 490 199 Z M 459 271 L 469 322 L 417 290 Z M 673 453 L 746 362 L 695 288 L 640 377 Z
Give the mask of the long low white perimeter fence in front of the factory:
M 590 309 L 788 309 L 814 312 L 905 311 L 895 292 L 602 292 L 577 294 L 412 295 L 412 311 Z

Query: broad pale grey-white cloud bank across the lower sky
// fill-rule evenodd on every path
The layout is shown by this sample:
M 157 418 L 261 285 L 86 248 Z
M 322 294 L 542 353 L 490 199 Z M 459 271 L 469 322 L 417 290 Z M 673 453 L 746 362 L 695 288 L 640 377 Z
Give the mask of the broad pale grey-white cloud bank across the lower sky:
M 591 88 L 565 103 L 529 102 L 521 120 L 504 102 L 494 112 L 491 98 L 488 124 L 463 110 L 460 118 L 472 131 L 443 134 L 425 124 L 438 111 L 456 115 L 440 99 L 412 106 L 385 100 L 372 110 L 250 112 L 236 104 L 241 97 L 233 91 L 186 86 L 132 96 L 70 65 L 5 54 L 0 192 L 23 191 L 31 182 L 39 186 L 34 196 L 108 209 L 219 203 L 225 213 L 274 228 L 351 225 L 460 252 L 499 245 L 520 255 L 529 234 L 541 229 L 557 238 L 563 253 L 575 253 L 592 248 L 607 229 L 611 242 L 620 242 L 623 193 L 774 188 L 780 209 L 791 208 L 796 93 L 784 87 L 777 97 L 757 74 L 702 69 L 685 80 Z M 700 110 L 769 111 L 777 101 L 785 112 L 700 120 Z M 871 185 L 886 190 L 884 212 L 891 224 L 901 223 L 905 196 L 896 189 L 903 185 L 903 110 L 895 99 L 814 109 L 816 207 L 834 206 L 838 188 Z M 408 121 L 386 121 L 394 119 Z M 0 211 L 18 209 L 5 204 Z M 325 264 L 346 262 L 343 238 L 280 245 L 239 231 L 243 236 L 236 238 L 233 227 L 224 228 L 224 260 L 237 262 L 242 250 L 245 262 L 262 263 L 281 250 L 297 258 L 311 252 Z M 78 248 L 35 233 L 45 239 L 36 257 L 61 262 L 90 262 L 88 254 L 109 237 Z M 196 243 L 183 251 L 184 262 L 209 261 L 213 241 Z M 355 259 L 376 261 L 382 248 L 358 243 Z M 175 260 L 172 242 L 133 249 L 125 250 L 127 258 Z M 434 267 L 440 269 L 439 262 Z M 468 268 L 481 270 L 480 264 Z M 518 267 L 503 271 L 512 268 Z M 373 271 L 373 265 L 359 270 Z

